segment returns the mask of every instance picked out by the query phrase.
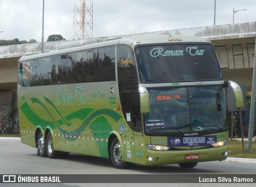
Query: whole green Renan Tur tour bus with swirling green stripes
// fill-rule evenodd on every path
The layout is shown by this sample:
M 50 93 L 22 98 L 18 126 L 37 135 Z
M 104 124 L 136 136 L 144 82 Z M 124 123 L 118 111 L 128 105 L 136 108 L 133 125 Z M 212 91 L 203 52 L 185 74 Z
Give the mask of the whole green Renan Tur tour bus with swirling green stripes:
M 114 167 L 224 160 L 226 88 L 200 37 L 90 38 L 18 61 L 20 135 L 38 155 L 110 158 Z

